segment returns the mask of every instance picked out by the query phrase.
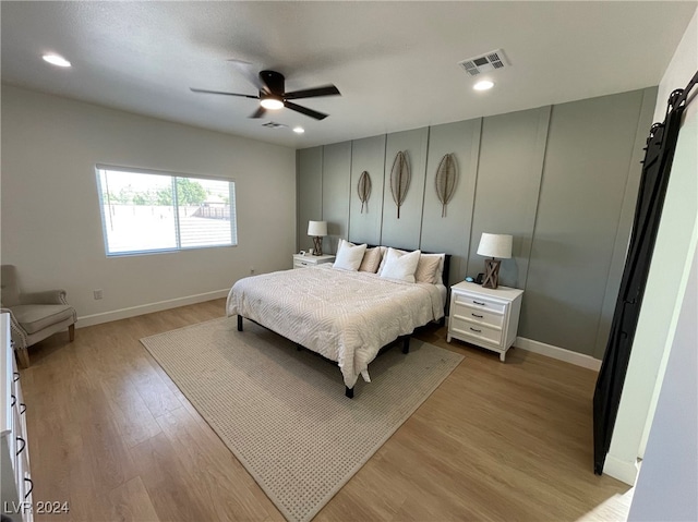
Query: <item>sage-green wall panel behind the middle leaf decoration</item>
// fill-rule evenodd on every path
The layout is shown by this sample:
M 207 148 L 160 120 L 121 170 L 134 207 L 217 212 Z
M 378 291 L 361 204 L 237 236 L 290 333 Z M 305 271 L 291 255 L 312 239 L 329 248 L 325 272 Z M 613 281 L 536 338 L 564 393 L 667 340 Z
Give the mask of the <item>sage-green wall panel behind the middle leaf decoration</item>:
M 418 248 L 424 201 L 424 174 L 429 128 L 388 134 L 385 153 L 383 194 L 383 229 L 381 243 L 404 248 Z M 390 169 L 398 151 L 407 154 L 410 165 L 410 186 L 397 218 L 397 206 L 390 193 Z

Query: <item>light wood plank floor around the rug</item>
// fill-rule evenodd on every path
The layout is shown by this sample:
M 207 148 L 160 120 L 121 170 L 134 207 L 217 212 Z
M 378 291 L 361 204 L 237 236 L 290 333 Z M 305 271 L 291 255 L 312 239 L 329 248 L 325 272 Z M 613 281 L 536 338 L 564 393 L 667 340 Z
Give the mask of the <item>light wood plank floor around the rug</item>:
M 224 307 L 82 328 L 72 343 L 65 332 L 31 349 L 22 385 L 34 499 L 70 502 L 38 521 L 284 520 L 139 342 Z M 444 328 L 418 337 L 466 359 L 315 520 L 625 520 L 631 489 L 592 472 L 593 372 L 522 350 L 502 364 L 446 343 Z

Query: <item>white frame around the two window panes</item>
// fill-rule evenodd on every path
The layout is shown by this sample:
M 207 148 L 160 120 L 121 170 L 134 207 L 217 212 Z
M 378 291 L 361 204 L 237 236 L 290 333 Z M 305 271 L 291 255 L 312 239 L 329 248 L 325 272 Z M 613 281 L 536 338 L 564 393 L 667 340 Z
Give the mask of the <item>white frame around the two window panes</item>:
M 108 203 L 107 201 L 105 201 L 100 171 L 124 172 L 129 174 L 161 175 L 164 178 L 170 179 L 170 183 L 172 186 L 171 208 L 173 210 L 174 239 L 177 243 L 174 247 L 130 250 L 125 252 L 109 252 L 107 218 L 105 216 L 105 205 L 108 205 Z M 232 178 L 224 178 L 220 175 L 208 175 L 208 174 L 206 175 L 190 174 L 190 173 L 173 172 L 173 171 L 167 171 L 167 170 L 144 169 L 140 167 L 122 167 L 122 166 L 115 166 L 115 165 L 108 165 L 108 163 L 95 165 L 95 178 L 97 182 L 97 197 L 98 197 L 97 203 L 99 205 L 99 215 L 101 217 L 101 236 L 103 236 L 105 254 L 107 258 L 131 257 L 131 256 L 142 256 L 142 255 L 153 255 L 153 254 L 169 254 L 174 252 L 186 252 L 186 251 L 195 251 L 195 250 L 203 250 L 203 248 L 226 248 L 226 247 L 238 246 L 237 186 L 236 186 L 236 180 Z M 228 183 L 228 194 L 229 194 L 229 202 L 230 202 L 229 203 L 229 206 L 230 206 L 230 243 L 229 244 L 226 243 L 226 244 L 214 244 L 214 245 L 182 246 L 182 240 L 181 240 L 182 231 L 180 227 L 179 205 L 178 205 L 179 194 L 177 191 L 178 178 L 202 180 L 202 181 L 219 181 L 219 182 Z M 108 184 L 107 184 L 107 191 L 108 191 Z

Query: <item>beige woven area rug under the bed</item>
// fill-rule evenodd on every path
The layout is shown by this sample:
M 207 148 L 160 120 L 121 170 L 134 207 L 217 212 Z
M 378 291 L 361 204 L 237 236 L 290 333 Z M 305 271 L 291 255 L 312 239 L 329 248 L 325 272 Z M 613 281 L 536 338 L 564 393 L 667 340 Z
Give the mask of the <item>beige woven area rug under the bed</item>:
M 348 399 L 336 365 L 248 320 L 141 342 L 289 521 L 311 520 L 462 360 L 412 339 Z

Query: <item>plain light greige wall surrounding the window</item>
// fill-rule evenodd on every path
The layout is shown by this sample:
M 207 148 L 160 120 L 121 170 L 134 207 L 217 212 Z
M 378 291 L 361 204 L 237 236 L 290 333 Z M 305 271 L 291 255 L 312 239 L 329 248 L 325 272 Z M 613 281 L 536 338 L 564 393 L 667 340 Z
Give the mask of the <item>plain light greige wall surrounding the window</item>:
M 234 180 L 238 246 L 107 258 L 98 162 Z M 225 295 L 290 267 L 294 170 L 287 147 L 3 85 L 2 263 L 27 291 L 64 288 L 83 326 Z

